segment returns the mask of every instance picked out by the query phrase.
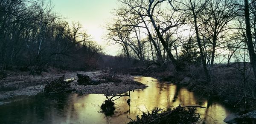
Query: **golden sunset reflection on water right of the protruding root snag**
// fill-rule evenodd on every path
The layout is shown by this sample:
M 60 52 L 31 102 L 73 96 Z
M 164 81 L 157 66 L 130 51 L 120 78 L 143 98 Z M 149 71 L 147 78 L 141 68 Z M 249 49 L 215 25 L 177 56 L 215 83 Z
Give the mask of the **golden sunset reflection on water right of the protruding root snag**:
M 207 123 L 224 123 L 224 118 L 229 114 L 221 104 L 208 104 L 207 99 L 194 95 L 193 92 L 183 87 L 169 83 L 160 83 L 157 82 L 157 79 L 151 77 L 134 77 L 134 80 L 148 85 L 148 88 L 144 89 L 143 92 L 140 90 L 131 92 L 131 107 L 128 116 L 133 119 L 137 115 L 141 115 L 142 112 L 147 112 L 156 107 L 167 108 L 177 107 L 178 105 L 201 105 L 207 107 L 206 109 L 198 108 L 198 113 L 201 113 L 201 119 L 207 121 Z M 129 110 L 125 102 L 126 99 L 123 97 L 116 101 L 116 104 L 124 107 L 120 112 Z

